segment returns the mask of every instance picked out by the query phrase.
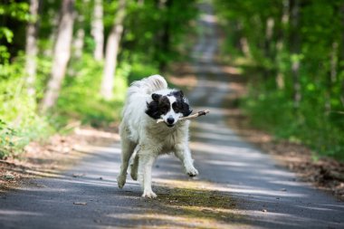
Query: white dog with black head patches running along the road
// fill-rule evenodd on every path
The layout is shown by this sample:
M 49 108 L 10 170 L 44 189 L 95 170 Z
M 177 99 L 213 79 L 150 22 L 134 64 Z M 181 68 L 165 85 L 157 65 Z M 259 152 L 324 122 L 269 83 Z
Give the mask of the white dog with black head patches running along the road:
M 188 147 L 189 120 L 178 121 L 191 112 L 183 91 L 168 89 L 167 81 L 160 75 L 152 75 L 130 85 L 119 125 L 119 188 L 126 183 L 130 157 L 130 176 L 133 180 L 139 178 L 143 197 L 157 197 L 151 187 L 151 170 L 159 155 L 173 152 L 188 176 L 198 175 Z M 164 121 L 157 123 L 157 119 Z

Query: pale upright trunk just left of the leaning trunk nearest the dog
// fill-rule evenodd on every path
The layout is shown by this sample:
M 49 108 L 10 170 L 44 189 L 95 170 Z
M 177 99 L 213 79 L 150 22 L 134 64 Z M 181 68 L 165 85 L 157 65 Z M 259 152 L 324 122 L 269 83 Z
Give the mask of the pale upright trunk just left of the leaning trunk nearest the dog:
M 92 20 L 92 35 L 96 44 L 93 55 L 96 61 L 101 61 L 103 58 L 104 48 L 104 24 L 102 23 L 102 0 L 94 0 L 93 20 Z

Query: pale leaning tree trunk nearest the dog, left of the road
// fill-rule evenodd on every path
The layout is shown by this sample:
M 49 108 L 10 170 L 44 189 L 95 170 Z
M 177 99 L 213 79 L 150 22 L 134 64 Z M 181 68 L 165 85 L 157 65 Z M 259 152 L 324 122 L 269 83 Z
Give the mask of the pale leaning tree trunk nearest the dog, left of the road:
M 120 37 L 123 32 L 123 21 L 126 13 L 125 6 L 126 1 L 119 0 L 119 8 L 106 44 L 105 66 L 100 89 L 100 94 L 105 100 L 110 100 L 113 97 L 112 90 L 115 81 Z

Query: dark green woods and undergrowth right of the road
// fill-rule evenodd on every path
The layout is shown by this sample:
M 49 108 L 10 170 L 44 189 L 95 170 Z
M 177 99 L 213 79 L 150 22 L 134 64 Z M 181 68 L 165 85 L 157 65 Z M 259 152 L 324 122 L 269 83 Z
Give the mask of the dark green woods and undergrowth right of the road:
M 344 3 L 215 0 L 222 57 L 240 66 L 253 126 L 344 160 Z

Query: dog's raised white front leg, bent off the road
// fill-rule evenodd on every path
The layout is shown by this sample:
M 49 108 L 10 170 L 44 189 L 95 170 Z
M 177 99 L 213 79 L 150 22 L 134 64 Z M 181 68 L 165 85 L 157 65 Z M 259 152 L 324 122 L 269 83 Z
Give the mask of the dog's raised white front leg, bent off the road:
M 190 177 L 198 175 L 197 169 L 194 167 L 194 160 L 191 157 L 190 149 L 186 145 L 177 145 L 175 148 L 175 155 L 183 163 L 186 174 Z

